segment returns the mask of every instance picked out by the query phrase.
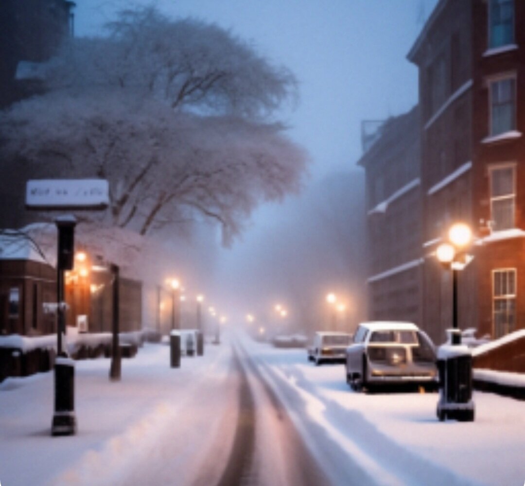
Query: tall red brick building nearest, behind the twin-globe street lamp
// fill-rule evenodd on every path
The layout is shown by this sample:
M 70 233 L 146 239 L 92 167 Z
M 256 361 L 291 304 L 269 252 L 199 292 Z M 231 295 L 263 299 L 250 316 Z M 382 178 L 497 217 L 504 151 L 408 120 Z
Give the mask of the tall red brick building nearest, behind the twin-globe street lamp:
M 433 251 L 455 221 L 475 235 L 459 325 L 525 327 L 525 2 L 439 0 L 408 54 L 419 70 L 423 324 L 450 326 L 451 277 Z

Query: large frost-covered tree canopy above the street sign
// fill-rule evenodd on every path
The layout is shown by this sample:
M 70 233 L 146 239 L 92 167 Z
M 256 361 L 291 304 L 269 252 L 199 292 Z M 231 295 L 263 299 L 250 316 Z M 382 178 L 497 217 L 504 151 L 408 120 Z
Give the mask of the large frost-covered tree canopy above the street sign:
M 261 201 L 297 191 L 307 157 L 275 119 L 296 96 L 286 68 L 154 8 L 108 29 L 72 39 L 48 65 L 47 92 L 0 114 L 4 169 L 107 178 L 110 208 L 89 219 L 146 235 L 204 215 L 226 242 Z

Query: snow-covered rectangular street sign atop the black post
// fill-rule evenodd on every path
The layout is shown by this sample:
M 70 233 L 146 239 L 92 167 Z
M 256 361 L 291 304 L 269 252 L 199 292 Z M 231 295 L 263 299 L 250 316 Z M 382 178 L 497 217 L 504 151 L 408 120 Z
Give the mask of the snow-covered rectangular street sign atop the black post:
M 26 184 L 28 209 L 105 209 L 108 205 L 105 179 L 33 179 Z

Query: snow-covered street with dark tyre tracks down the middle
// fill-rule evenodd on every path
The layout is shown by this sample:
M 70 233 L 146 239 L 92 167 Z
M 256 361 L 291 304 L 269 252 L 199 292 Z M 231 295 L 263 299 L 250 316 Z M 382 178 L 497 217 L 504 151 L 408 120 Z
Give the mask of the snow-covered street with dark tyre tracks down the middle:
M 77 435 L 51 437 L 53 374 L 0 384 L 0 483 L 500 485 L 525 480 L 525 403 L 475 393 L 439 422 L 436 393 L 359 394 L 341 365 L 244 335 L 169 367 L 169 347 L 76 362 Z M 240 407 L 240 408 L 239 408 Z M 240 413 L 239 413 L 240 409 Z M 293 427 L 295 425 L 295 427 Z M 316 460 L 313 460 L 315 458 Z

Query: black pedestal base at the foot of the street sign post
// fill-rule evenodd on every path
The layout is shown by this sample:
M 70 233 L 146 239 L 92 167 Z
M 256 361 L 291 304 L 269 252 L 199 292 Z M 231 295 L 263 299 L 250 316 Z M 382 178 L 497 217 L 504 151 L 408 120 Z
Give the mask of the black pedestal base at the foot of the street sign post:
M 72 435 L 77 431 L 75 416 L 75 362 L 59 356 L 55 361 L 55 414 L 51 434 Z

